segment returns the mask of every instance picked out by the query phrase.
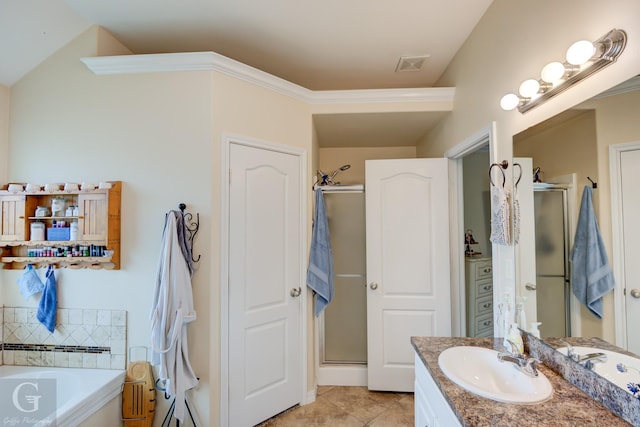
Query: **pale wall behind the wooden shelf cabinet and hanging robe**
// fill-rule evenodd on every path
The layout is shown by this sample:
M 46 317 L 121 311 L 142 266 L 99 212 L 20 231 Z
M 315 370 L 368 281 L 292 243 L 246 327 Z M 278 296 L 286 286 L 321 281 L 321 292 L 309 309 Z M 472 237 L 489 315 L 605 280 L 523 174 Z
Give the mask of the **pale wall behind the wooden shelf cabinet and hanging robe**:
M 97 40 L 95 29 L 87 31 L 12 86 L 8 178 L 123 181 L 122 269 L 60 269 L 57 277 L 60 307 L 127 310 L 129 346 L 150 344 L 164 213 L 184 202 L 200 214 L 195 253 L 205 260 L 194 275 L 198 319 L 189 326 L 189 338 L 193 366 L 202 379 L 194 399 L 205 397 L 196 406 L 208 424 L 209 331 L 216 313 L 209 299 L 217 289 L 211 235 L 218 228 L 212 223 L 211 183 L 217 174 L 211 167 L 211 75 L 96 76 L 79 58 L 95 56 Z M 13 286 L 20 273 L 0 273 L 2 300 L 33 305 Z

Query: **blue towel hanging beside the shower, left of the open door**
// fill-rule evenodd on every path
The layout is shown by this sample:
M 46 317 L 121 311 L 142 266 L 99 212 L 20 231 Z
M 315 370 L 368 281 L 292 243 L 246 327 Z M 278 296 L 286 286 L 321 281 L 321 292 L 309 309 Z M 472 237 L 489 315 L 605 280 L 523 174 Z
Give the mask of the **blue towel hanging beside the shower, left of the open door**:
M 313 218 L 307 285 L 316 292 L 315 313 L 319 316 L 333 299 L 333 252 L 329 239 L 329 222 L 324 195 L 319 188 L 316 189 L 316 210 Z

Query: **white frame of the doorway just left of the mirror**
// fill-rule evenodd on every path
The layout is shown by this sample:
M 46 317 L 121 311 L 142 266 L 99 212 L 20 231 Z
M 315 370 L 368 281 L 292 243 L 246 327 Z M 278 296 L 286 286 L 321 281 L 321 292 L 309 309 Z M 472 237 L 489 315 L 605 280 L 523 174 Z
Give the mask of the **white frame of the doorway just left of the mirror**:
M 462 159 L 479 148 L 489 145 L 489 159 L 493 159 L 494 135 L 496 124 L 491 122 L 475 134 L 466 138 L 456 146 L 445 151 L 444 157 L 449 162 L 449 188 L 452 192 L 449 197 L 449 252 L 451 257 L 451 334 L 453 336 L 465 336 L 466 331 L 466 295 L 464 275 L 464 183 L 462 177 Z M 493 160 L 491 160 L 493 161 Z M 489 165 L 487 165 L 487 173 Z M 495 253 L 495 252 L 494 252 Z M 495 297 L 494 297 L 495 299 Z

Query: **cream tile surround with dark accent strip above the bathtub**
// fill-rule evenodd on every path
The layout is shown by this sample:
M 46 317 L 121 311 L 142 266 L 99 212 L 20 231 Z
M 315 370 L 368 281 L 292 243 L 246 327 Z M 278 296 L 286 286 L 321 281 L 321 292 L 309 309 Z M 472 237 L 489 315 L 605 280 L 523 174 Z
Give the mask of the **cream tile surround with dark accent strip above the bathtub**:
M 59 308 L 50 333 L 36 307 L 4 307 L 2 362 L 6 365 L 124 369 L 124 310 Z

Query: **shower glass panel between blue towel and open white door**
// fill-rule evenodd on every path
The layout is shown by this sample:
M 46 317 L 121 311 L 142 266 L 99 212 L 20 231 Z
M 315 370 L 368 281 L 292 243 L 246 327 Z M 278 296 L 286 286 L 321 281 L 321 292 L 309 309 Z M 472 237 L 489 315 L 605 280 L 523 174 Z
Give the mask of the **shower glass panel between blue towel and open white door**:
M 364 192 L 324 191 L 334 297 L 324 310 L 322 363 L 367 363 L 367 288 Z

